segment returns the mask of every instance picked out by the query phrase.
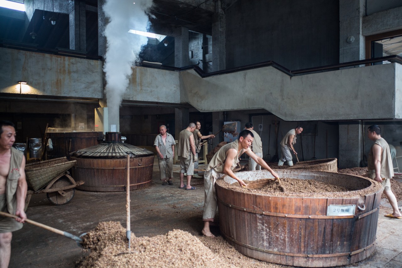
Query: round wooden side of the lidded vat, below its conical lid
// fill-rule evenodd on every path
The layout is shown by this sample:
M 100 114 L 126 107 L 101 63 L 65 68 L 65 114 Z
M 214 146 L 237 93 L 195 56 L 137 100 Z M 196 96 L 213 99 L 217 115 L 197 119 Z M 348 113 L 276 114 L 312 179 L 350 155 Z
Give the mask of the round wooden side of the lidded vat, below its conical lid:
M 126 158 L 79 158 L 72 168 L 72 177 L 85 183 L 77 189 L 97 192 L 125 191 Z M 130 190 L 146 187 L 152 183 L 154 156 L 130 158 Z

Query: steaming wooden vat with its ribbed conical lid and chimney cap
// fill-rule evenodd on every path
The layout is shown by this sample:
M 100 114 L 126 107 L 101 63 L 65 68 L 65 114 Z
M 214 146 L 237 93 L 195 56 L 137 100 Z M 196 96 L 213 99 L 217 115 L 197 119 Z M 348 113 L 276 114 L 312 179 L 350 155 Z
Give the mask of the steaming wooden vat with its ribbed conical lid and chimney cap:
M 127 154 L 130 155 L 130 190 L 151 185 L 154 152 L 115 140 L 120 140 L 120 132 L 106 132 L 106 142 L 74 152 L 71 158 L 77 160 L 77 166 L 72 169 L 73 177 L 85 182 L 77 189 L 125 191 Z

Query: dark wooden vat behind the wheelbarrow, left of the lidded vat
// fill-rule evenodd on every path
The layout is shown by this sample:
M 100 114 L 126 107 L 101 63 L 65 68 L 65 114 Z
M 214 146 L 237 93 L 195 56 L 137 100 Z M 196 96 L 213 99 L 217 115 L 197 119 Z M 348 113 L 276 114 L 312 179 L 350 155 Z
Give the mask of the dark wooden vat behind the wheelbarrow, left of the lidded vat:
M 51 139 L 53 151 L 46 150 L 46 158 L 53 159 L 63 156 L 70 157 L 71 152 L 98 144 L 98 139 L 103 139 L 102 132 L 46 132 L 46 140 Z

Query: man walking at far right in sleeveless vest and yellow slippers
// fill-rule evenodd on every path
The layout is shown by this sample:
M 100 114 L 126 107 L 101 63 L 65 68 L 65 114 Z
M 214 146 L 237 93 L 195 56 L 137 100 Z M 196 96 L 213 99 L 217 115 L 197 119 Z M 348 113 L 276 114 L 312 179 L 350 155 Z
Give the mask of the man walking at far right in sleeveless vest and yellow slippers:
M 390 179 L 394 177 L 394 166 L 392 165 L 390 146 L 384 138 L 381 138 L 381 128 L 377 125 L 369 126 L 367 136 L 374 142 L 370 148 L 369 160 L 367 161 L 367 177 L 378 181 L 384 188 L 384 194 L 394 210 L 394 213 L 385 216 L 402 219 L 402 214 L 398 210 L 398 202 L 391 190 Z

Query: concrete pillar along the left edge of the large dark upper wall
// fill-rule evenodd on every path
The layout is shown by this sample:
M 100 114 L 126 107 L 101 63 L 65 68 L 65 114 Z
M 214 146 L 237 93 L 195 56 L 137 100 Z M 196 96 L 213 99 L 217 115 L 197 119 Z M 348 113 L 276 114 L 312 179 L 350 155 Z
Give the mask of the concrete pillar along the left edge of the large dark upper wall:
M 215 14 L 212 16 L 212 70 L 226 69 L 225 14 L 221 8 L 221 0 L 215 2 Z

